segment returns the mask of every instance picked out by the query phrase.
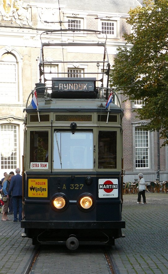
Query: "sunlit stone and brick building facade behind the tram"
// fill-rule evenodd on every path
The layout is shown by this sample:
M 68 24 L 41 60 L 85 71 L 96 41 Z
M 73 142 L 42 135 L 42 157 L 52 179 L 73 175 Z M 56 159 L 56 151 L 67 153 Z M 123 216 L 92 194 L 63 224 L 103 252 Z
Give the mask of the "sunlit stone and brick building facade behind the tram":
M 127 1 L 22 1 L 0 0 L 0 138 L 1 138 L 1 174 L 4 171 L 15 171 L 22 168 L 23 129 L 25 113 L 23 112 L 27 99 L 39 82 L 39 54 L 40 34 L 45 30 L 77 28 L 95 29 L 107 33 L 107 51 L 112 67 L 118 46 L 124 46 L 124 32 L 130 32 L 131 26 L 126 23 L 128 11 L 141 5 L 137 0 Z M 55 41 L 73 41 L 70 37 L 56 36 Z M 82 31 L 75 33 L 79 41 L 101 41 L 101 36 L 90 37 Z M 127 44 L 127 47 L 130 47 Z M 80 56 L 81 61 L 86 55 L 99 54 L 90 52 L 87 47 L 84 51 L 67 52 L 64 57 Z M 50 58 L 48 52 L 48 60 Z M 62 49 L 57 49 L 55 60 L 62 59 Z M 94 58 L 95 59 L 95 58 Z M 60 63 L 55 67 L 48 66 L 48 71 L 54 70 L 55 77 L 63 77 L 63 68 Z M 78 76 L 81 72 L 87 75 L 87 63 L 79 63 L 77 67 L 66 67 L 66 70 Z M 101 69 L 101 66 L 100 68 Z M 30 97 L 31 99 L 31 97 Z M 130 101 L 121 103 L 124 109 L 124 181 L 134 181 L 139 172 L 145 174 L 145 180 L 151 181 L 160 175 L 160 180 L 167 179 L 168 157 L 167 147 L 159 148 L 157 132 L 143 132 L 143 123 L 138 121 L 132 110 L 140 107 L 140 102 L 133 104 Z M 143 136 L 143 137 L 140 137 Z M 141 139 L 141 141 L 139 141 Z M 144 142 L 142 140 L 144 139 Z M 137 141 L 138 140 L 138 141 Z M 139 146 L 137 146 L 139 142 Z M 147 146 L 148 142 L 148 146 Z M 143 146 L 142 146 L 143 145 Z M 144 146 L 145 145 L 145 146 Z M 141 147 L 142 146 L 142 147 Z M 139 149 L 140 148 L 140 149 Z M 140 159 L 141 156 L 143 159 Z M 158 161 L 159 159 L 159 161 Z M 158 164 L 159 162 L 159 164 Z M 158 170 L 160 170 L 158 172 Z

